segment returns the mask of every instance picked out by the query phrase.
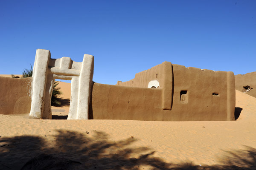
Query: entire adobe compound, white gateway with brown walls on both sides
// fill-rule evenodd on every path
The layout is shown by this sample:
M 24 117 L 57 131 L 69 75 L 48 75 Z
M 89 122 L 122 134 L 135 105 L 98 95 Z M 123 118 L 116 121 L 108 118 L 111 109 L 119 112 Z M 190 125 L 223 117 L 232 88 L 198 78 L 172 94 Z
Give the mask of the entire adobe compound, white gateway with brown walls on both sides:
M 74 62 L 69 57 L 52 59 L 49 50 L 38 49 L 32 78 L 0 77 L 5 89 L 0 91 L 0 113 L 52 119 L 54 80 L 70 79 L 68 119 L 235 120 L 233 72 L 163 62 L 116 85 L 99 84 L 92 77 L 93 56 L 84 54 L 83 62 Z

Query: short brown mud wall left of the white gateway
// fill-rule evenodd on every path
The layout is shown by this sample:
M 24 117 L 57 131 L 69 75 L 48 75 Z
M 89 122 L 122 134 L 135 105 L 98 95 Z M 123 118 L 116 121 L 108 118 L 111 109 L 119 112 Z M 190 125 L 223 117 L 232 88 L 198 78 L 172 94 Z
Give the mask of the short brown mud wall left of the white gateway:
M 0 77 L 0 114 L 25 114 L 31 107 L 32 78 Z

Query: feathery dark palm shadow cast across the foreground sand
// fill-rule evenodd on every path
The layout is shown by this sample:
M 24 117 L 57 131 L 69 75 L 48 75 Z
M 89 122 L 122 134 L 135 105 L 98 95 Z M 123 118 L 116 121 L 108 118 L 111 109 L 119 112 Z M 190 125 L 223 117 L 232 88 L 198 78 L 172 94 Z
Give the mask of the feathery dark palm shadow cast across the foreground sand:
M 58 130 L 52 136 L 0 138 L 1 170 L 249 170 L 256 168 L 256 150 L 229 153 L 224 165 L 172 164 L 154 157 L 148 147 L 131 147 L 137 139 L 113 141 L 104 132 Z M 49 138 L 49 139 L 47 139 Z M 46 140 L 47 139 L 47 140 Z M 6 144 L 6 145 L 5 145 Z M 243 157 L 241 157 L 243 156 Z

